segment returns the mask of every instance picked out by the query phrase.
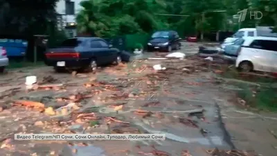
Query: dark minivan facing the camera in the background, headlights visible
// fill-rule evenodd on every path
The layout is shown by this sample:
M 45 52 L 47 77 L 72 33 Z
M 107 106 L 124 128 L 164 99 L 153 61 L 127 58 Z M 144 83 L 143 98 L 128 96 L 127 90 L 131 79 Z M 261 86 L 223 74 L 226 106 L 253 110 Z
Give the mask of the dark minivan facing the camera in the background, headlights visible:
M 148 42 L 148 51 L 168 51 L 179 50 L 181 38 L 176 31 L 157 31 Z

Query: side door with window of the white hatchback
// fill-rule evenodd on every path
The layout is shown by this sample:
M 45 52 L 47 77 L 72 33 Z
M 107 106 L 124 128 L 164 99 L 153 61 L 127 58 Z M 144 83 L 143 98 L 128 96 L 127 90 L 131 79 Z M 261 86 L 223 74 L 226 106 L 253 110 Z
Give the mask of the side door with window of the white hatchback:
M 249 45 L 249 57 L 253 62 L 254 69 L 257 71 L 267 71 L 271 70 L 271 57 L 272 53 L 269 51 L 269 45 L 267 40 L 253 40 Z

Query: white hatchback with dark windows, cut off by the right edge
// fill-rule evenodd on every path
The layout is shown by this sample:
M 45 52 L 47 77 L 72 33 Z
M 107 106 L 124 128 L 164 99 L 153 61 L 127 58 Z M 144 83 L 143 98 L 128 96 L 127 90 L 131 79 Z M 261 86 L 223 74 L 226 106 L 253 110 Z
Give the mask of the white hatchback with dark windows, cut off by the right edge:
M 242 71 L 277 72 L 277 37 L 245 37 L 235 67 Z

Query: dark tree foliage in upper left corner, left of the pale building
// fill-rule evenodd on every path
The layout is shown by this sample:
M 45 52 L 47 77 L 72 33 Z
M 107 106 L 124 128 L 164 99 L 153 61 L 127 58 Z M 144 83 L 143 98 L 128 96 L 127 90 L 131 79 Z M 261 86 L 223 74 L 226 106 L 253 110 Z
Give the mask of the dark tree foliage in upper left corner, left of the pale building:
M 0 33 L 44 34 L 55 26 L 55 3 L 58 0 L 0 0 Z

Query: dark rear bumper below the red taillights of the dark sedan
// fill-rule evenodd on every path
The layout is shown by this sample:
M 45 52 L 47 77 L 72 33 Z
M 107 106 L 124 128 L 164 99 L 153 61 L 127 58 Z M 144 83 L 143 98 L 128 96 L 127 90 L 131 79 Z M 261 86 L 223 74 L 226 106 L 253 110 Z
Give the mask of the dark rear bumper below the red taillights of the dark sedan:
M 64 67 L 75 68 L 85 67 L 89 64 L 89 59 L 71 59 L 71 60 L 46 60 L 45 64 L 48 66 L 57 67 L 57 62 L 65 62 Z

